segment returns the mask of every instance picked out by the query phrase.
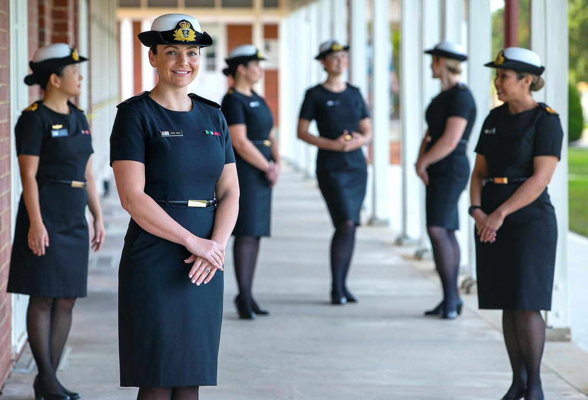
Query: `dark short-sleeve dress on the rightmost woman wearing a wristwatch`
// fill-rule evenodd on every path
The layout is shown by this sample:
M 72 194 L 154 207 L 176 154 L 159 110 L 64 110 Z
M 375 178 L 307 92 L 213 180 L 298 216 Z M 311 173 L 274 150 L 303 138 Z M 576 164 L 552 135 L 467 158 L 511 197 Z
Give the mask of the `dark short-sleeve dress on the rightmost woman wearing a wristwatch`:
M 486 159 L 489 177 L 528 178 L 534 157 L 560 157 L 562 140 L 559 116 L 545 104 L 517 114 L 509 114 L 503 104 L 486 118 L 476 152 Z M 495 211 L 519 186 L 484 185 L 483 211 Z M 557 223 L 547 188 L 506 216 L 496 242 L 480 243 L 477 234 L 475 239 L 480 309 L 551 309 Z

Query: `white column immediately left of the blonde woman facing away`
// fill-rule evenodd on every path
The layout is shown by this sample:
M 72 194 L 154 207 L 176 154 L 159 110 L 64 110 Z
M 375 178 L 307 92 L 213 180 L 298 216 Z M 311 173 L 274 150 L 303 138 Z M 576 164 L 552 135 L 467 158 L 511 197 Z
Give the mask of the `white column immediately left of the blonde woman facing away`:
M 420 191 L 422 182 L 412 167 L 423 137 L 423 107 L 421 101 L 422 63 L 420 1 L 401 0 L 400 11 L 400 136 L 402 151 L 402 232 L 399 243 L 420 238 L 422 222 Z

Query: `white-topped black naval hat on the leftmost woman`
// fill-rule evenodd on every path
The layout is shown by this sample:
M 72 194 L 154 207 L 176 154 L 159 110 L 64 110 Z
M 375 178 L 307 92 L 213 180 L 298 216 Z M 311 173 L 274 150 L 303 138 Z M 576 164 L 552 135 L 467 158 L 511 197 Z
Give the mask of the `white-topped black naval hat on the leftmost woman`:
M 36 50 L 33 59 L 29 62 L 32 74 L 25 76 L 25 83 L 29 86 L 41 84 L 43 86 L 49 80 L 49 76 L 55 73 L 59 67 L 69 64 L 77 64 L 88 60 L 78 54 L 78 49 L 65 43 L 53 43 Z

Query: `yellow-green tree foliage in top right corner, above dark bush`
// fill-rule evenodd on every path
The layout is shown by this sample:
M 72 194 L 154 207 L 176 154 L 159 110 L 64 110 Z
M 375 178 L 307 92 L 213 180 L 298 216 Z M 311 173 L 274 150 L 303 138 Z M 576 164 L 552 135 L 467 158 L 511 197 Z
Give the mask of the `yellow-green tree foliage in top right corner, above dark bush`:
M 588 80 L 588 4 L 586 0 L 568 0 L 570 81 Z

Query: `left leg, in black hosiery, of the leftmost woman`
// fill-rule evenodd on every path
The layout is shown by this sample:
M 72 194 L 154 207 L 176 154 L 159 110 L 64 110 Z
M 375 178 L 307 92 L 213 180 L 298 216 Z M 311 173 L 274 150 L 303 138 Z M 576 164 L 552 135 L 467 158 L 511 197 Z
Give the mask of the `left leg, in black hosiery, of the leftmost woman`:
M 61 393 L 61 386 L 55 377 L 51 363 L 51 313 L 54 299 L 35 297 L 29 299 L 26 311 L 26 331 L 29 345 L 39 370 L 36 384 L 41 391 L 49 394 Z

